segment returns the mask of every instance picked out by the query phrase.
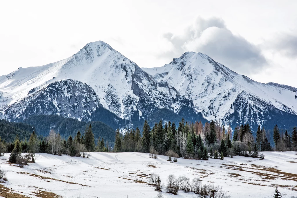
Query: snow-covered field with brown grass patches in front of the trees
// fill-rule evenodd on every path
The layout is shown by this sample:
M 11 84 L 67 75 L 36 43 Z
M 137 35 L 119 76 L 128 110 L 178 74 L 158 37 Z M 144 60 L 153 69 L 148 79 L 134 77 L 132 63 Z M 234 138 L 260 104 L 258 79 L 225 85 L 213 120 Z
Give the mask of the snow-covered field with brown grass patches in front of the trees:
M 91 153 L 89 159 L 37 154 L 37 162 L 23 169 L 9 164 L 9 154 L 5 154 L 0 163 L 7 172 L 8 182 L 4 186 L 28 197 L 34 197 L 32 192 L 36 191 L 49 191 L 65 198 L 155 197 L 154 187 L 147 184 L 151 173 L 160 175 L 165 185 L 169 174 L 200 177 L 203 184 L 223 186 L 232 197 L 273 197 L 275 185 L 279 186 L 282 198 L 297 195 L 297 152 L 263 153 L 264 160 L 235 156 L 209 161 L 180 158 L 177 163 L 160 155 L 151 159 L 147 153 Z M 194 193 L 183 191 L 163 195 L 195 197 Z

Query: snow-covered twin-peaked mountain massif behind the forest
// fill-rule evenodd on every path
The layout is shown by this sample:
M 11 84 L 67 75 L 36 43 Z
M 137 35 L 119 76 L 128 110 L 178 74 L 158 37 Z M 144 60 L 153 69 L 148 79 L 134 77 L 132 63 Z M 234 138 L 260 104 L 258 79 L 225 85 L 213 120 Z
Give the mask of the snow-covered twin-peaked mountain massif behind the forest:
M 59 62 L 20 67 L 0 77 L 0 116 L 8 120 L 33 114 L 90 120 L 102 107 L 132 121 L 162 109 L 232 125 L 265 126 L 280 115 L 297 120 L 293 90 L 253 81 L 201 53 L 186 52 L 162 67 L 141 68 L 97 41 Z M 171 119 L 167 115 L 163 118 Z

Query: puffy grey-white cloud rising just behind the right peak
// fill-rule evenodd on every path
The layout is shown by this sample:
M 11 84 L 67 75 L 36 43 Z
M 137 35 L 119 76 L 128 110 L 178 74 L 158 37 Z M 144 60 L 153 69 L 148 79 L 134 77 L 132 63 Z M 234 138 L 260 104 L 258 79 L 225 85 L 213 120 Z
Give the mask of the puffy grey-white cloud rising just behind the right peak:
M 198 17 L 182 35 L 163 35 L 171 44 L 162 56 L 178 57 L 185 51 L 201 52 L 238 73 L 252 73 L 266 67 L 260 48 L 240 35 L 233 34 L 221 18 Z

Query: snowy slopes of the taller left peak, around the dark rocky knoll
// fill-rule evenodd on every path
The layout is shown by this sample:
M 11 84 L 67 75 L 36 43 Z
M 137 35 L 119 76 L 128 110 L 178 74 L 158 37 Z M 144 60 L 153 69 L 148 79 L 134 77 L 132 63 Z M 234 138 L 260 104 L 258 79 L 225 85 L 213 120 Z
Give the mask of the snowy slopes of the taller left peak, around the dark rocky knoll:
M 19 68 L 7 76 L 1 76 L 0 91 L 9 93 L 8 98 L 11 98 L 2 105 L 4 108 L 1 112 L 10 119 L 24 116 L 6 116 L 13 112 L 7 109 L 15 109 L 12 106 L 27 108 L 24 101 L 34 99 L 30 96 L 31 92 L 64 79 L 88 84 L 103 107 L 121 118 L 130 119 L 133 111 L 141 116 L 162 108 L 178 113 L 183 104 L 187 104 L 186 109 L 195 111 L 191 100 L 180 96 L 166 83 L 156 81 L 110 45 L 97 41 L 88 43 L 78 53 L 62 61 Z

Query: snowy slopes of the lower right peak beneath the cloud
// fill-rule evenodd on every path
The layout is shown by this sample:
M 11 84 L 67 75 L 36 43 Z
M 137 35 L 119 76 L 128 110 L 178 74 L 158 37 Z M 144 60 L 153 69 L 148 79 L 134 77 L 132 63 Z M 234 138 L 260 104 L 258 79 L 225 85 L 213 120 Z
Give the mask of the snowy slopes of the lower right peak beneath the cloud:
M 290 114 L 297 114 L 297 100 L 292 91 L 253 81 L 215 62 L 205 54 L 186 52 L 163 67 L 143 70 L 158 81 L 165 81 L 169 86 L 175 87 L 180 95 L 193 100 L 195 109 L 208 120 L 232 120 L 230 115 L 234 113 L 234 102 L 238 96 L 245 98 L 243 101 L 247 103 L 247 108 L 241 109 L 242 113 L 245 113 L 255 103 L 249 100 L 248 95 L 265 104 L 261 108 L 253 109 L 256 116 L 252 116 L 255 116 L 253 119 L 258 124 L 263 123 L 258 115 L 265 110 L 266 104 Z M 246 117 L 239 123 L 253 119 Z

